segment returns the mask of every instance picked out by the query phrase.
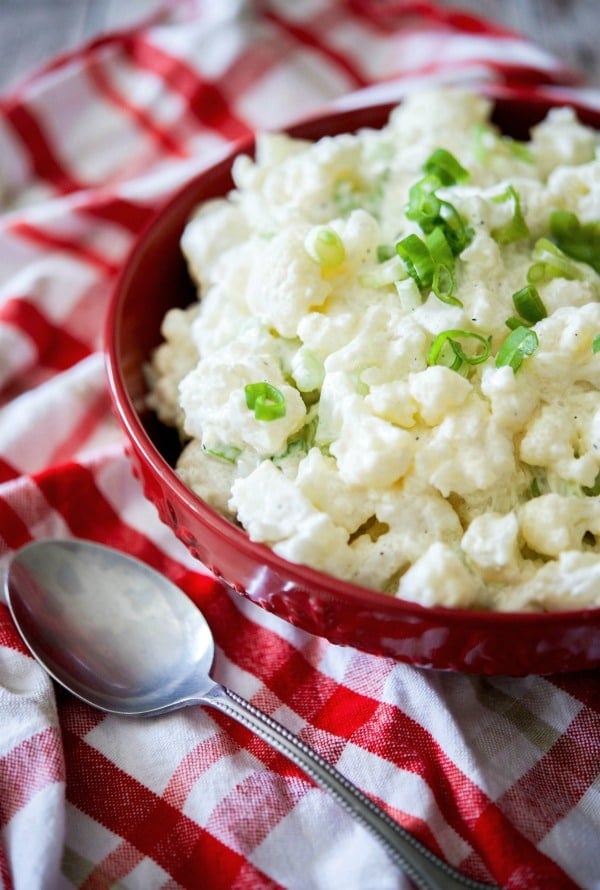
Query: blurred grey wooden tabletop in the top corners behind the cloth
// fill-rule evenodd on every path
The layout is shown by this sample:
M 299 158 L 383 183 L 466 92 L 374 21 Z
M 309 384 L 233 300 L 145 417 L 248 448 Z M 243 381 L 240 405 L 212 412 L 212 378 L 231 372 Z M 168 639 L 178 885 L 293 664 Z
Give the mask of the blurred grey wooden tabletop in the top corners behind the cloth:
M 519 31 L 582 71 L 591 85 L 600 87 L 599 0 L 438 2 Z M 0 0 L 0 90 L 56 53 L 106 30 L 130 25 L 161 5 L 162 0 Z

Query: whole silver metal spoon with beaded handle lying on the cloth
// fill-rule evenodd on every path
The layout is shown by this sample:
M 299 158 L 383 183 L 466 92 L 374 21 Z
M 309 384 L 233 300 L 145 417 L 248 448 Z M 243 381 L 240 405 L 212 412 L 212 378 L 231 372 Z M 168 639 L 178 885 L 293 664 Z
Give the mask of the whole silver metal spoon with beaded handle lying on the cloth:
M 144 563 L 87 541 L 37 541 L 13 557 L 5 592 L 35 658 L 83 701 L 129 716 L 216 708 L 330 792 L 417 887 L 489 888 L 434 856 L 316 751 L 212 680 L 214 643 L 202 613 Z

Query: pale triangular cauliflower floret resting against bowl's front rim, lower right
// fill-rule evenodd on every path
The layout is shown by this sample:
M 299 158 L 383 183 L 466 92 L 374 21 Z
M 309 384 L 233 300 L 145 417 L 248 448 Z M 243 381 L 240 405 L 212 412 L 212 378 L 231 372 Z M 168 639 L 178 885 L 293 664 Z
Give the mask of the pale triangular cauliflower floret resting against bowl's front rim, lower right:
M 436 541 L 402 576 L 397 596 L 421 606 L 468 607 L 477 603 L 480 582 L 456 552 Z

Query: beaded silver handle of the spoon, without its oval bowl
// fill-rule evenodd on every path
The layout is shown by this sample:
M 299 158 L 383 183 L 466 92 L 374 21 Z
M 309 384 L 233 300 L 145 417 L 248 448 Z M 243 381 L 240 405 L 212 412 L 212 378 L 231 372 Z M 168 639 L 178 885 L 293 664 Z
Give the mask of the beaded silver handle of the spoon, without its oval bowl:
M 391 859 L 420 890 L 453 890 L 459 887 L 490 890 L 492 887 L 461 875 L 431 853 L 320 754 L 237 693 L 215 683 L 206 694 L 195 700 L 232 717 L 299 766 L 381 841 Z

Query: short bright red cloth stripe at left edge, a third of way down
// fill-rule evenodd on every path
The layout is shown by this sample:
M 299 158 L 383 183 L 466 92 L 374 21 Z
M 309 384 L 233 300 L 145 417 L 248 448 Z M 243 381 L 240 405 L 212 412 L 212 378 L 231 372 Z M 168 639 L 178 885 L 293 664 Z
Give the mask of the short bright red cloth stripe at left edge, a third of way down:
M 15 297 L 0 308 L 0 321 L 13 325 L 35 345 L 38 362 L 65 371 L 86 358 L 90 347 L 43 315 L 33 300 Z

